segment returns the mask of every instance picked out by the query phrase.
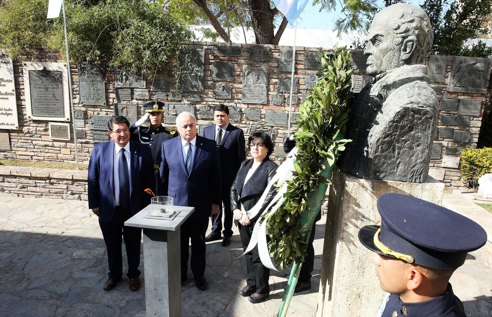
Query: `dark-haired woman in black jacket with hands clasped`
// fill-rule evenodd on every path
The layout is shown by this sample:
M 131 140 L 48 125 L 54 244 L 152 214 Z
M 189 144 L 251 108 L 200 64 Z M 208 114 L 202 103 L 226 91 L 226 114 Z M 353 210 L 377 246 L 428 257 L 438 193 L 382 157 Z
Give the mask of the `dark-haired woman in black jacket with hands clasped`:
M 231 186 L 231 210 L 234 213 L 234 223 L 238 226 L 243 249 L 246 250 L 255 222 L 261 212 L 275 197 L 277 190 L 270 188 L 267 198 L 262 204 L 260 212 L 249 219 L 246 211 L 253 208 L 260 200 L 268 183 L 272 180 L 278 165 L 269 159 L 274 150 L 274 144 L 270 136 L 264 132 L 253 132 L 249 135 L 248 145 L 252 159 L 246 159 L 236 175 Z M 270 269 L 260 261 L 258 246 L 246 253 L 246 286 L 239 292 L 243 296 L 249 296 L 251 303 L 264 301 L 270 295 L 268 280 Z

